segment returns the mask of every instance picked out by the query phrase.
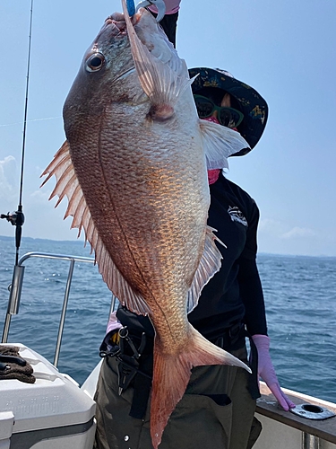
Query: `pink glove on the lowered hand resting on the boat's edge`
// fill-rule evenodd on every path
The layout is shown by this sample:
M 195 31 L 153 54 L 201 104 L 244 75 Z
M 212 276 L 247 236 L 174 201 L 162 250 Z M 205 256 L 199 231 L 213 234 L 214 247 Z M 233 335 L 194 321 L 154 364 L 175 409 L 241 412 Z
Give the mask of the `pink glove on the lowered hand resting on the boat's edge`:
M 267 335 L 253 335 L 252 339 L 258 350 L 258 376 L 263 378 L 263 381 L 279 401 L 282 409 L 286 411 L 294 409 L 295 404 L 289 401 L 286 394 L 281 391 L 277 374 L 275 374 L 274 366 L 271 363 L 270 339 Z

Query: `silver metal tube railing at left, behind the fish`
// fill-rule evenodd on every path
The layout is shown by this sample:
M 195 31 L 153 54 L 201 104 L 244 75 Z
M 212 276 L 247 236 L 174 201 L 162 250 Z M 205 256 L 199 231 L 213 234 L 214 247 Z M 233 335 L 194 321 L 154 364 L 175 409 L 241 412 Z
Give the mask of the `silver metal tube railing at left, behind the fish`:
M 29 260 L 30 258 L 41 258 L 41 259 L 54 259 L 54 260 L 67 260 L 69 262 L 69 270 L 68 276 L 65 284 L 65 295 L 63 299 L 62 312 L 58 326 L 57 339 L 56 339 L 56 348 L 55 348 L 55 356 L 53 364 L 57 366 L 59 360 L 59 354 L 61 350 L 63 330 L 65 327 L 65 313 L 66 308 L 69 301 L 70 287 L 73 280 L 73 269 L 74 264 L 76 262 L 84 262 L 94 264 L 95 260 L 89 257 L 82 256 L 70 256 L 65 254 L 52 254 L 47 252 L 27 252 L 22 256 L 22 258 L 18 261 L 17 265 L 14 266 L 13 269 L 13 278 L 12 284 L 9 286 L 10 295 L 8 299 L 8 307 L 7 313 L 4 320 L 4 330 L 2 343 L 6 343 L 8 339 L 9 329 L 11 325 L 12 315 L 16 315 L 19 313 L 19 306 L 21 302 L 22 295 L 22 284 L 23 284 L 23 275 L 24 275 L 24 265 L 23 262 Z M 111 302 L 111 310 L 114 309 L 116 303 L 116 297 L 112 295 Z

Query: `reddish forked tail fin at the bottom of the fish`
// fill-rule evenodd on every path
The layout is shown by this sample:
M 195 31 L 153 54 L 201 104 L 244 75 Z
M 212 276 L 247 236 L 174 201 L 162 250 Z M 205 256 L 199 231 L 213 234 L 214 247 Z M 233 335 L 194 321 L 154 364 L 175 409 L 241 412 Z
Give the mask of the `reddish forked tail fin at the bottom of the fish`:
M 165 357 L 154 347 L 154 370 L 151 390 L 151 442 L 158 449 L 168 418 L 181 400 L 189 382 L 191 369 L 199 365 L 236 365 L 250 368 L 237 357 L 213 345 L 192 326 L 185 350 Z

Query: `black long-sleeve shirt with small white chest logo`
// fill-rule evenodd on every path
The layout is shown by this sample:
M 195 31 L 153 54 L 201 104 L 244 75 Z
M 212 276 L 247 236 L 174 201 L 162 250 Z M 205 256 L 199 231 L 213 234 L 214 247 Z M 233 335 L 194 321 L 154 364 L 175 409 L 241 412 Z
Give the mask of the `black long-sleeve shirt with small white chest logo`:
M 220 174 L 210 186 L 208 225 L 217 229 L 223 255 L 218 273 L 204 286 L 188 319 L 206 338 L 216 339 L 237 322 L 252 334 L 267 334 L 263 289 L 256 266 L 259 210 L 246 191 Z

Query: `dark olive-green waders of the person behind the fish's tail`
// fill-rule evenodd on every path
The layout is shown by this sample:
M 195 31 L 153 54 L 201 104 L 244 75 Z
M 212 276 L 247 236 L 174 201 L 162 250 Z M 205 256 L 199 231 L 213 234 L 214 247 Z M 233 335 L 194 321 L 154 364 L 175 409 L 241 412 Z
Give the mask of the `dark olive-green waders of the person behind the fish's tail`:
M 246 361 L 246 348 L 232 351 Z M 106 357 L 99 374 L 95 449 L 151 449 L 150 401 L 143 419 L 129 416 L 134 388 L 118 395 L 115 357 Z M 182 400 L 169 418 L 159 449 L 247 449 L 260 434 L 255 400 L 246 370 L 235 366 L 197 366 Z

